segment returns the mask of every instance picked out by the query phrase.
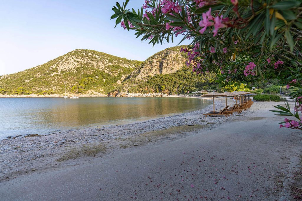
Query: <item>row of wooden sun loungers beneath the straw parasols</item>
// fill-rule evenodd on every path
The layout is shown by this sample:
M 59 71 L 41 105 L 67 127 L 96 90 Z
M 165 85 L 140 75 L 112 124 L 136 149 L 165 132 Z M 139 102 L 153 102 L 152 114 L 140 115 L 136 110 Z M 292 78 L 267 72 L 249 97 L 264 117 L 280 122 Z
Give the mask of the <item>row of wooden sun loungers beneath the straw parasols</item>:
M 242 111 L 249 109 L 252 106 L 252 104 L 253 104 L 253 101 L 251 99 L 249 99 L 247 102 L 244 102 L 241 105 L 240 104 L 235 104 L 232 108 L 229 108 L 230 106 L 228 105 L 220 111 L 209 112 L 209 113 L 205 113 L 203 115 L 205 115 L 205 117 L 207 117 L 207 116 L 220 116 L 220 115 L 223 115 L 225 117 L 229 117 L 230 115 L 233 115 L 234 112 L 237 112 L 239 114 Z

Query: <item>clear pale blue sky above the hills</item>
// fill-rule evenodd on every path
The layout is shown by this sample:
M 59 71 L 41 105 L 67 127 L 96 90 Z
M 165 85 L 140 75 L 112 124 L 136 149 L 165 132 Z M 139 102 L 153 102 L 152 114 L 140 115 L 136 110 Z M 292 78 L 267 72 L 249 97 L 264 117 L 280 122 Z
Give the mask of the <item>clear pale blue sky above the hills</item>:
M 118 0 L 120 3 L 124 2 Z M 148 45 L 110 20 L 111 0 L 0 0 L 0 75 L 43 64 L 74 49 L 144 61 L 173 43 Z M 140 8 L 143 0 L 130 0 Z M 184 41 L 183 44 L 188 41 Z

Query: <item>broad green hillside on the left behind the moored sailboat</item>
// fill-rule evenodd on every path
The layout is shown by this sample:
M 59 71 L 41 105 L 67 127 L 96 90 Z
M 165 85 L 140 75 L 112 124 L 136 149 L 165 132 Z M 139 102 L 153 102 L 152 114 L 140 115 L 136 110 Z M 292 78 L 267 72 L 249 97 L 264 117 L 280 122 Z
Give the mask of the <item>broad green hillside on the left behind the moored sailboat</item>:
M 45 64 L 0 78 L 7 94 L 45 94 L 64 92 L 107 94 L 140 66 L 141 61 L 76 49 Z

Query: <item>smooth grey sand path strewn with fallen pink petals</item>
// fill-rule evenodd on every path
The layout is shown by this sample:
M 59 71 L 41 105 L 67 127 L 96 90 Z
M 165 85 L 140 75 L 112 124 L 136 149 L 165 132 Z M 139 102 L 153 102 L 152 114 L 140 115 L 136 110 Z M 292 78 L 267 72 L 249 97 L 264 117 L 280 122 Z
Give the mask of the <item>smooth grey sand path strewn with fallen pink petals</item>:
M 301 132 L 257 112 L 174 141 L 0 183 L 1 200 L 289 200 Z

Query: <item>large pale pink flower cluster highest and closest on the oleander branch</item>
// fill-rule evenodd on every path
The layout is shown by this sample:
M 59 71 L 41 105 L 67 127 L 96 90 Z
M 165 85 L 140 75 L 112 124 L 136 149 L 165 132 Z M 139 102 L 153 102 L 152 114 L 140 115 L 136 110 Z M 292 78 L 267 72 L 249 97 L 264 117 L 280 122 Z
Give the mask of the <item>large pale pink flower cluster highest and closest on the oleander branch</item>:
M 202 29 L 199 30 L 199 33 L 203 34 L 204 31 L 207 30 L 207 27 L 214 25 L 213 36 L 216 36 L 220 28 L 227 27 L 224 22 L 228 21 L 228 18 L 223 18 L 223 15 L 214 18 L 211 11 L 212 9 L 210 8 L 207 12 L 202 14 L 202 20 L 199 22 L 199 26 L 202 27 Z

